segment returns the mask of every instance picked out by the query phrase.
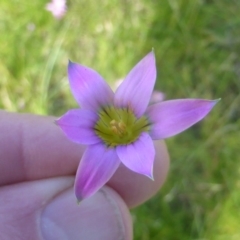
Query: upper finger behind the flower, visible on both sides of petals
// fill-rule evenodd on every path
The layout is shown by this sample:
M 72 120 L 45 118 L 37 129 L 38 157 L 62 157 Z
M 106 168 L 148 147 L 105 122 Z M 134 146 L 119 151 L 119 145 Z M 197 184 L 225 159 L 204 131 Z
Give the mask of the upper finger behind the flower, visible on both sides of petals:
M 74 175 L 85 150 L 70 142 L 53 117 L 0 112 L 0 185 Z M 128 206 L 136 206 L 162 186 L 169 167 L 165 144 L 156 142 L 154 181 L 121 165 L 108 183 Z

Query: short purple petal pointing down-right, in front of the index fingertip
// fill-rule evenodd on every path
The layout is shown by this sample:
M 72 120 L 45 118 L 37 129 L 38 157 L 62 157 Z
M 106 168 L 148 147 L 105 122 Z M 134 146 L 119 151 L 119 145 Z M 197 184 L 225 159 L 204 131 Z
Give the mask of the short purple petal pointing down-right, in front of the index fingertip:
M 147 133 L 143 132 L 132 144 L 118 146 L 117 154 L 126 167 L 153 179 L 155 149 Z

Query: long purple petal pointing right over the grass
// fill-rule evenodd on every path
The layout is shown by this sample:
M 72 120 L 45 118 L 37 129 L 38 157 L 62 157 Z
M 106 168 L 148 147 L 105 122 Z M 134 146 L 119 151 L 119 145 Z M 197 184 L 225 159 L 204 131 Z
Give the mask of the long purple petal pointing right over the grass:
M 148 107 L 146 115 L 152 122 L 153 139 L 174 136 L 203 119 L 217 101 L 203 99 L 179 99 L 160 102 Z

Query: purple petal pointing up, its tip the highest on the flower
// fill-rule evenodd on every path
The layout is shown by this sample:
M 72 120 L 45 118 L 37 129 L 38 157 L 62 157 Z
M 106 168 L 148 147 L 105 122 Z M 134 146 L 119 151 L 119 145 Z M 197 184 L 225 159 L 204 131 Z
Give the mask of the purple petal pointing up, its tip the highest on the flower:
M 130 107 L 137 117 L 145 112 L 156 80 L 155 56 L 150 52 L 127 75 L 115 94 L 115 105 Z

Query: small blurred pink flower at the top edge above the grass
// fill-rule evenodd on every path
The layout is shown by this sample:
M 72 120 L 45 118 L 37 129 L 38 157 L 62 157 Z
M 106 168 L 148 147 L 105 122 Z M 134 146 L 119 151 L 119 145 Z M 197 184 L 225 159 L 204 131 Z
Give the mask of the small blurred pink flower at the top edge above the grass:
M 55 18 L 61 19 L 67 11 L 66 0 L 52 0 L 47 4 L 46 9 L 52 12 Z

